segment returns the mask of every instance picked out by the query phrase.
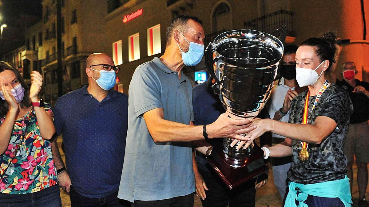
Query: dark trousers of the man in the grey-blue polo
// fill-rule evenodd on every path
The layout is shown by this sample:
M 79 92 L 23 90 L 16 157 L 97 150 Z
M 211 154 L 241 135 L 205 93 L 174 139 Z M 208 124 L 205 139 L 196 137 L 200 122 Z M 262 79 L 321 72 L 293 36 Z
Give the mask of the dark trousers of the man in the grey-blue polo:
M 194 194 L 188 194 L 187 196 L 178 196 L 171 199 L 164 200 L 135 200 L 131 203 L 132 207 L 193 207 Z

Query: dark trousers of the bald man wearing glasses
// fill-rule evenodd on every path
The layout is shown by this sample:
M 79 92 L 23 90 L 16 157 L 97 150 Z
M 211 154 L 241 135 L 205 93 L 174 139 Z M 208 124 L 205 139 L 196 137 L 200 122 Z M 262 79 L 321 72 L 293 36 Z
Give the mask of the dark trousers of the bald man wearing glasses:
M 77 193 L 70 186 L 70 205 L 72 207 L 94 207 L 94 206 L 104 206 L 104 207 L 129 207 L 130 203 L 125 200 L 118 199 L 118 191 L 102 198 L 88 198 Z

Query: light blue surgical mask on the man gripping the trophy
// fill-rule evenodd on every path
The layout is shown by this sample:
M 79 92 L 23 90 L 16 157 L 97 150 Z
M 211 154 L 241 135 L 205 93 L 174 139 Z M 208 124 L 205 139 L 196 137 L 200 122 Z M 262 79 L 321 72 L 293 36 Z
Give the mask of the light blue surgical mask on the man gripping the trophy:
M 204 45 L 201 45 L 199 43 L 196 42 L 189 42 L 186 37 L 182 34 L 182 32 L 179 32 L 183 38 L 190 43 L 190 47 L 188 49 L 187 52 L 183 52 L 181 47 L 179 46 L 179 44 L 177 43 L 179 49 L 182 52 L 182 60 L 183 63 L 186 66 L 196 66 L 197 64 L 200 63 L 201 58 L 203 58 L 204 55 Z

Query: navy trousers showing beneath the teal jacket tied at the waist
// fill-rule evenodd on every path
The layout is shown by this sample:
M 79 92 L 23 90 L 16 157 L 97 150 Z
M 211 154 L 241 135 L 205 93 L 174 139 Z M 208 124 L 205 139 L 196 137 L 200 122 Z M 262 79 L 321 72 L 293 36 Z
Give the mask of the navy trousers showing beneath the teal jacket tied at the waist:
M 286 195 L 283 199 L 283 206 L 284 202 L 286 201 L 287 194 L 289 192 L 289 188 L 286 189 Z M 296 206 L 299 206 L 299 202 L 295 200 Z M 345 207 L 344 203 L 342 203 L 341 199 L 339 198 L 326 198 L 326 197 L 319 197 L 319 196 L 312 196 L 308 195 L 307 199 L 304 201 L 308 207 Z

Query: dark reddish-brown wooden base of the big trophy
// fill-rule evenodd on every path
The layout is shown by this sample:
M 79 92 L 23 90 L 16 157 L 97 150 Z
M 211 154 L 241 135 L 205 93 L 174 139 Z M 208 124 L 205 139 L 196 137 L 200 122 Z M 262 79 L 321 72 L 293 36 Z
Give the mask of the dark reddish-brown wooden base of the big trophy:
M 211 154 L 206 159 L 230 190 L 268 171 L 264 163 L 263 150 L 256 144 L 254 152 L 245 159 L 235 159 L 225 154 L 223 142 L 216 142 L 213 146 Z

